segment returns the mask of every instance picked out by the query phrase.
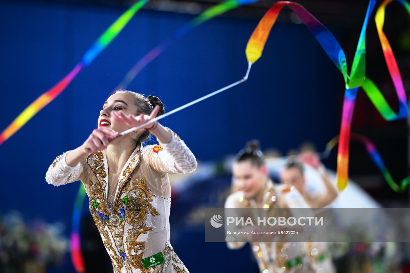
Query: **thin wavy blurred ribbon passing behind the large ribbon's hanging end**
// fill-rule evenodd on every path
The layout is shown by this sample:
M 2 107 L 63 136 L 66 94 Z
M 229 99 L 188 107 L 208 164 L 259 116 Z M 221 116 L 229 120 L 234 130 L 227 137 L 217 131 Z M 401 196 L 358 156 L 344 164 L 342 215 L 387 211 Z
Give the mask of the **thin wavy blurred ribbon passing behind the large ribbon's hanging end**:
M 392 175 L 387 170 L 386 165 L 384 164 L 383 159 L 380 156 L 380 153 L 378 152 L 377 147 L 373 143 L 373 141 L 371 141 L 370 139 L 360 134 L 354 134 L 354 133 L 351 134 L 350 139 L 355 140 L 355 141 L 360 141 L 363 144 L 371 160 L 373 160 L 374 164 L 376 164 L 380 172 L 383 174 L 383 177 L 387 181 L 387 184 L 389 184 L 390 188 L 393 191 L 396 191 L 398 193 L 405 192 L 407 185 L 410 183 L 410 176 L 405 177 L 403 180 L 401 180 L 400 183 L 395 182 Z M 339 136 L 335 136 L 331 141 L 329 141 L 329 143 L 326 145 L 326 150 L 324 152 L 326 157 L 330 155 L 330 151 L 337 145 L 338 142 L 339 142 Z

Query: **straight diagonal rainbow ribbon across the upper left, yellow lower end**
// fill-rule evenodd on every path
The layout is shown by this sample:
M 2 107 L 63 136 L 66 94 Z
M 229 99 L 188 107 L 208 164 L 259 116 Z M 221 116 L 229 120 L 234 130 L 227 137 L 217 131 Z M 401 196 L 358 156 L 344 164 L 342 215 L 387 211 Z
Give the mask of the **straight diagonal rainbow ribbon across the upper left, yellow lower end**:
M 77 76 L 77 74 L 91 61 L 93 61 L 121 32 L 121 30 L 127 25 L 135 13 L 149 0 L 139 0 L 127 11 L 125 11 L 108 29 L 97 39 L 97 41 L 87 50 L 82 57 L 82 60 L 68 73 L 62 80 L 60 80 L 55 86 L 43 93 L 39 98 L 34 100 L 16 119 L 0 134 L 0 145 L 4 143 L 10 136 L 17 132 L 27 121 L 29 121 L 35 114 L 54 100 L 70 82 Z

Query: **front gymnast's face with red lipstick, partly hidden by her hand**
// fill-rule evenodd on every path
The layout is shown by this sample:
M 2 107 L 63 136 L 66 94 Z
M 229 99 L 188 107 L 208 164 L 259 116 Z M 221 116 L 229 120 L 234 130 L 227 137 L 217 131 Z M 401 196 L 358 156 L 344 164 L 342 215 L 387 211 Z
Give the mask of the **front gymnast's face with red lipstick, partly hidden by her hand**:
M 123 132 L 130 127 L 123 122 L 115 121 L 112 117 L 113 112 L 123 111 L 125 114 L 137 113 L 137 106 L 134 103 L 132 95 L 127 93 L 115 93 L 110 96 L 104 103 L 103 109 L 100 111 L 98 117 L 98 128 L 107 126 L 108 128 L 116 131 Z

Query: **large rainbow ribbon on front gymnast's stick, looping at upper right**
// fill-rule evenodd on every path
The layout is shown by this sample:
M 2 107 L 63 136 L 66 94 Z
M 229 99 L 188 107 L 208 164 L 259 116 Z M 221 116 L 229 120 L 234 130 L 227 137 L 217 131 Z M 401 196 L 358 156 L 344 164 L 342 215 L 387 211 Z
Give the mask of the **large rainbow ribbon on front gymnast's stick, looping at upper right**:
M 389 68 L 389 73 L 393 79 L 394 86 L 399 97 L 399 114 L 394 113 L 394 111 L 387 104 L 380 90 L 373 82 L 371 82 L 371 80 L 369 80 L 365 76 L 366 29 L 376 0 L 370 0 L 369 2 L 366 16 L 364 18 L 364 23 L 362 25 L 362 30 L 360 32 L 358 46 L 356 48 L 350 75 L 348 75 L 347 73 L 346 56 L 341 46 L 335 39 L 335 36 L 333 36 L 333 34 L 303 6 L 294 2 L 280 1 L 273 4 L 273 6 L 266 12 L 262 20 L 260 20 L 246 47 L 246 57 L 248 59 L 248 62 L 254 63 L 262 56 L 262 51 L 265 46 L 266 39 L 269 36 L 271 28 L 275 23 L 279 12 L 285 5 L 288 5 L 302 20 L 306 27 L 312 32 L 323 50 L 325 50 L 326 54 L 330 57 L 330 59 L 342 73 L 345 81 L 346 91 L 343 104 L 342 124 L 340 128 L 340 141 L 337 156 L 337 187 L 340 191 L 342 191 L 347 186 L 348 182 L 348 149 L 350 129 L 358 88 L 362 86 L 365 93 L 367 94 L 367 96 L 369 96 L 371 102 L 375 105 L 376 109 L 380 112 L 383 118 L 390 121 L 398 118 L 405 118 L 406 116 L 408 116 L 408 107 L 400 72 L 392 53 L 392 49 L 387 41 L 386 36 L 383 33 L 384 11 L 385 7 L 390 2 L 392 2 L 392 0 L 385 0 L 380 5 L 378 11 L 376 12 L 375 20 L 385 60 Z M 407 2 L 405 2 L 404 0 L 398 0 L 398 2 L 404 5 L 410 13 L 409 4 Z

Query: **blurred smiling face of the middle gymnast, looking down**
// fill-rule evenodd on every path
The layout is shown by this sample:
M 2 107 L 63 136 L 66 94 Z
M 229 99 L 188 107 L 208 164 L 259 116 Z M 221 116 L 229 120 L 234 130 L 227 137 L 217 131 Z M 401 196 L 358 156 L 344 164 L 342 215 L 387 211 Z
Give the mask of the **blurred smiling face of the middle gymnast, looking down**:
M 249 160 L 235 162 L 232 166 L 232 183 L 244 191 L 245 198 L 254 198 L 264 188 L 262 179 L 266 173 L 266 166 L 258 167 Z

